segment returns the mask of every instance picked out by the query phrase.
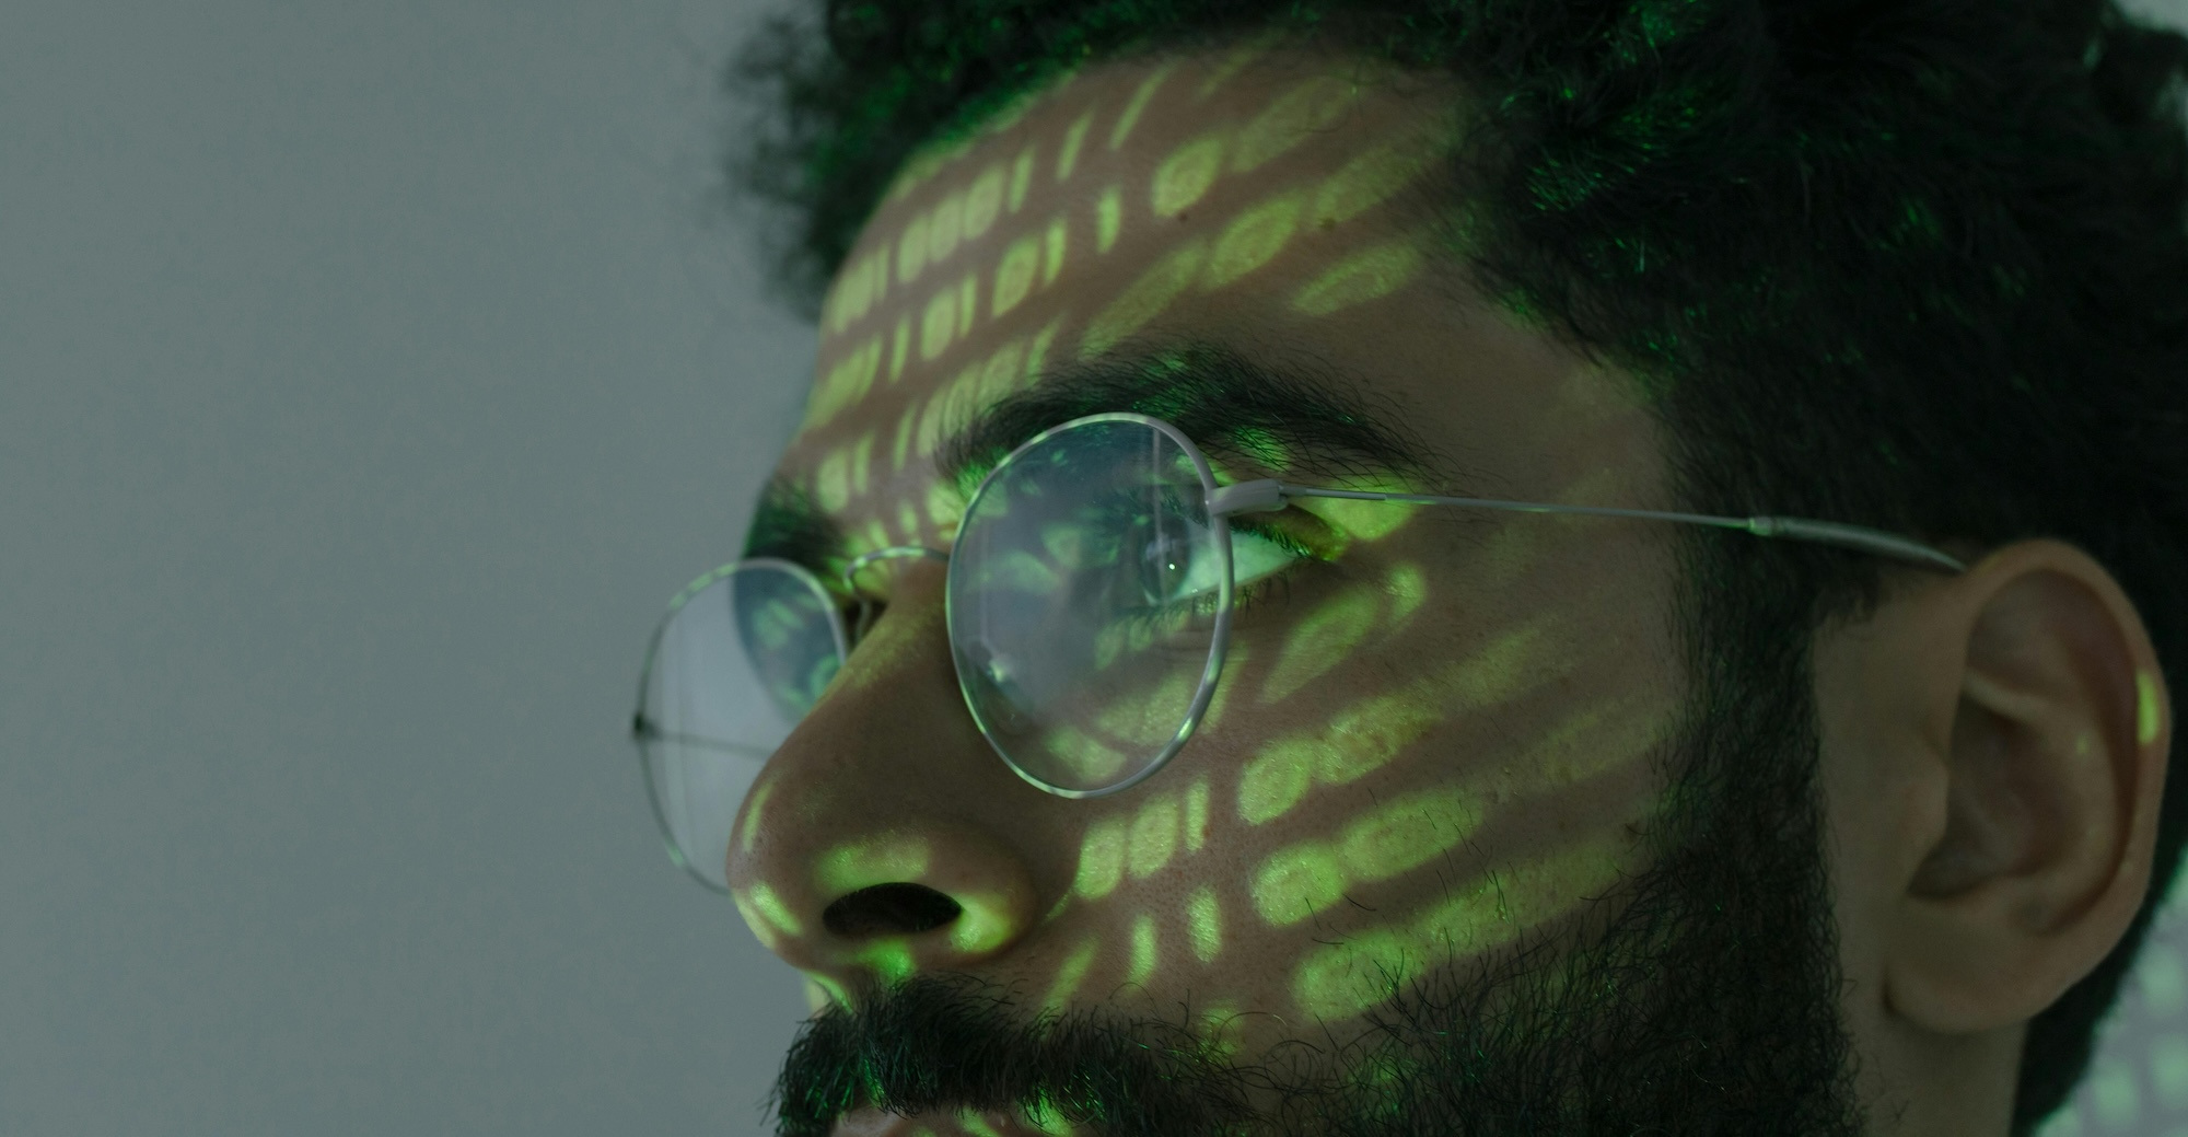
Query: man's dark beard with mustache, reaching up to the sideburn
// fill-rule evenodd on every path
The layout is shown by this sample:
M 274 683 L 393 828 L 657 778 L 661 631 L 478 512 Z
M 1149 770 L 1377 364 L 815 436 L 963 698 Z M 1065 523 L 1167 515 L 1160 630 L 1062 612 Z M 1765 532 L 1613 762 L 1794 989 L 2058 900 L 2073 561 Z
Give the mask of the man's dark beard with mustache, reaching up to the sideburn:
M 1101 1137 L 1862 1133 L 1805 636 L 1770 638 L 1694 654 L 1641 835 L 1650 868 L 1593 901 L 1588 927 L 1446 962 L 1350 1041 L 1291 1039 L 1254 1063 L 1192 1030 L 1190 1006 L 1028 1015 L 978 977 L 917 975 L 805 1023 L 777 1135 L 825 1137 L 860 1106 Z

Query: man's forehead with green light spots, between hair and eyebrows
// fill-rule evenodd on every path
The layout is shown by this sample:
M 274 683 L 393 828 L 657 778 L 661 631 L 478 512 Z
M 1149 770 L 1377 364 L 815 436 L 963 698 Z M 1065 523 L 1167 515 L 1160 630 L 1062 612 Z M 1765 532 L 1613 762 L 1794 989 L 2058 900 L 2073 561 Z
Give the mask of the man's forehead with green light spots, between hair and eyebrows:
M 1573 359 L 1455 295 L 1429 254 L 1455 107 L 1451 81 L 1262 42 L 1101 63 L 915 155 L 823 304 L 783 479 L 910 529 L 956 426 L 1140 337 L 1306 352 L 1429 420 L 1455 398 L 1518 411 L 1479 405 L 1499 396 L 1468 394 L 1455 352 L 1479 376 Z

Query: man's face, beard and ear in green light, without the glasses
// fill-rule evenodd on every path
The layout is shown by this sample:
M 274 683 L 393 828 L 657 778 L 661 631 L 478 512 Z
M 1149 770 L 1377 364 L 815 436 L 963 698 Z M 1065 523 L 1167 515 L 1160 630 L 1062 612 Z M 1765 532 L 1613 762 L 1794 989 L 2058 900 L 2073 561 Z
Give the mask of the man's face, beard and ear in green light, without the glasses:
M 1422 249 L 1448 101 L 1109 61 L 912 162 L 750 553 L 947 551 L 1002 453 L 1118 409 L 1219 481 L 1674 507 L 1632 387 Z M 1818 638 L 1812 726 L 1698 698 L 1674 527 L 1234 525 L 1206 719 L 1092 800 L 967 715 L 943 562 L 860 573 L 875 619 L 729 846 L 816 991 L 781 1133 L 2006 1133 L 2026 1021 L 2144 896 L 2170 708 L 2074 547 L 1890 568 Z M 1753 783 L 1680 778 L 1722 754 Z

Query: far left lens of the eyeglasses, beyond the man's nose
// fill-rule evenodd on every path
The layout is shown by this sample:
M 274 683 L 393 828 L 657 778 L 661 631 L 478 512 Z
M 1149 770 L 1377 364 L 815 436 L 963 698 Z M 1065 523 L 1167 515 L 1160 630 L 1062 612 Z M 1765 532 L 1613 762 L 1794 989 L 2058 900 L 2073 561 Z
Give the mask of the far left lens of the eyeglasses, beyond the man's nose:
M 637 737 L 670 857 L 729 892 L 729 831 L 759 765 L 836 669 L 842 623 L 821 582 L 746 560 L 694 582 L 654 632 Z

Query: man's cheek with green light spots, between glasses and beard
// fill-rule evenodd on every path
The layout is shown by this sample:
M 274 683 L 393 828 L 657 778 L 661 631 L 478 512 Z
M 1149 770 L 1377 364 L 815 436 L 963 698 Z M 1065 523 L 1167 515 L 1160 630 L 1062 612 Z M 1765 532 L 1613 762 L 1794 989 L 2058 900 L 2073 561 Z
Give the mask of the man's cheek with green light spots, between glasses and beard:
M 1083 918 L 1057 927 L 1101 934 L 1066 936 L 1059 984 L 1352 1017 L 1637 868 L 1674 704 L 1573 619 L 1615 606 L 1481 625 L 1422 601 L 1400 566 L 1238 630 L 1195 741 L 1085 831 Z

